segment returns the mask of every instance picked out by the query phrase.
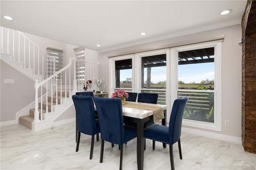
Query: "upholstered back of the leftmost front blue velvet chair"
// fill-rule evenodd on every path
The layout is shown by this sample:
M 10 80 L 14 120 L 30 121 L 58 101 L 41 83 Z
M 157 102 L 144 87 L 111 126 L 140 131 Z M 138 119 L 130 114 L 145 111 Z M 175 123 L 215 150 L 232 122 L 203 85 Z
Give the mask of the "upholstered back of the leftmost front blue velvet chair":
M 76 109 L 76 121 L 79 132 L 88 135 L 95 134 L 95 112 L 92 96 L 72 96 L 75 109 Z

